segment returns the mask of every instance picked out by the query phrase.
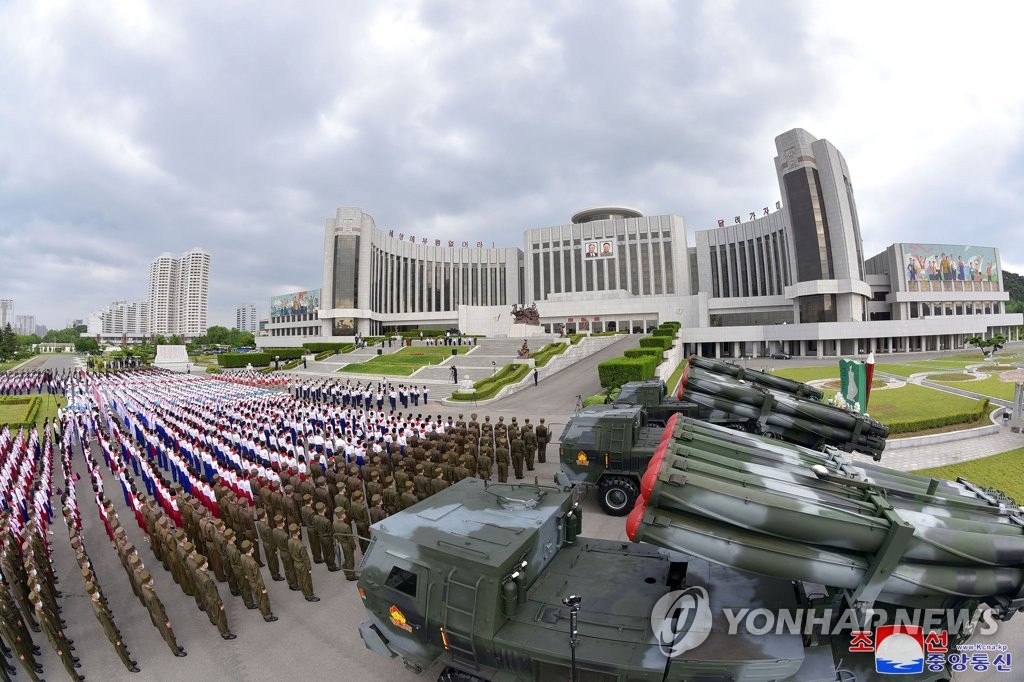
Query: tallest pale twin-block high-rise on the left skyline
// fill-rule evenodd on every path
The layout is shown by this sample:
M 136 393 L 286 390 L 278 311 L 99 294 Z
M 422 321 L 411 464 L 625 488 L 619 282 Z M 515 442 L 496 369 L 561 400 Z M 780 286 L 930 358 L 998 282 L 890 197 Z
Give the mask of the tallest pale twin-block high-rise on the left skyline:
M 164 253 L 150 265 L 150 331 L 197 337 L 206 334 L 210 254 L 197 247 L 181 258 Z

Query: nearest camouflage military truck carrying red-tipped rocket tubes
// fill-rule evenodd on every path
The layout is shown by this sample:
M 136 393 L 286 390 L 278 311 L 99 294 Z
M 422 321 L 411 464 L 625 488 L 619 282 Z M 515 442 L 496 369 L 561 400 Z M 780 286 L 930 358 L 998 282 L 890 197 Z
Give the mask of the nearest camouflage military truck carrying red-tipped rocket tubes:
M 564 479 L 467 478 L 375 524 L 366 646 L 445 682 L 881 680 L 880 656 L 907 665 L 862 645 L 882 616 L 928 619 L 929 641 L 956 652 L 970 620 L 912 609 L 1021 608 L 1024 528 L 994 494 L 674 420 L 627 523 L 647 544 L 582 537 Z M 752 611 L 813 620 L 735 616 Z M 923 655 L 904 679 L 950 678 L 945 656 Z

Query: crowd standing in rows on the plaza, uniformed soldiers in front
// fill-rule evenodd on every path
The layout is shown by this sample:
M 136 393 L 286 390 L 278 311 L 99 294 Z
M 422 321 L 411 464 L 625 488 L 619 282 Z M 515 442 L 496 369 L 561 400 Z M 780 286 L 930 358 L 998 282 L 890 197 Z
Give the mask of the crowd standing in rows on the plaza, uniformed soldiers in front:
M 420 397 L 428 404 L 426 387 L 387 382 L 292 380 L 285 392 L 153 370 L 0 375 L 0 390 L 13 385 L 51 387 L 68 397 L 42 432 L 0 430 L 0 639 L 32 680 L 42 671 L 32 637 L 40 631 L 69 675 L 82 679 L 63 634 L 47 544 L 54 450 L 63 518 L 93 613 L 125 668 L 137 672 L 81 535 L 76 456 L 133 593 L 170 650 L 183 656 L 106 481 L 117 481 L 155 569 L 167 571 L 229 640 L 234 634 L 218 586 L 272 623 L 263 568 L 316 602 L 312 564 L 355 580 L 356 551 L 367 550 L 373 523 L 467 476 L 523 478 L 545 461 L 551 439 L 544 419 L 534 425 L 514 417 L 492 423 L 475 414 L 468 421 L 414 415 Z M 6 664 L 0 670 L 0 680 L 13 673 Z

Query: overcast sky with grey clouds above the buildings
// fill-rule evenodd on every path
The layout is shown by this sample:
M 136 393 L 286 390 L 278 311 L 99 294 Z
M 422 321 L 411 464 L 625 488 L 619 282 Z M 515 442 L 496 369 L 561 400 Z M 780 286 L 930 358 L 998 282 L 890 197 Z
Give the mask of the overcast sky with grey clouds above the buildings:
M 301 11 L 299 11 L 301 10 Z M 210 324 L 321 285 L 324 221 L 522 246 L 626 204 L 690 232 L 846 157 L 865 255 L 1024 270 L 1020 2 L 0 4 L 0 298 L 62 328 L 212 255 Z

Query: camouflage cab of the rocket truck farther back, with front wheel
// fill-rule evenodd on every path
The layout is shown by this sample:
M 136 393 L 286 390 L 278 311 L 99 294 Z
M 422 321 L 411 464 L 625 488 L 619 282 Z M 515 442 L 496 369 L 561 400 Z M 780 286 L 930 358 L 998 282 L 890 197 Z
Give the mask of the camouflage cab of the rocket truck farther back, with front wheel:
M 640 476 L 665 433 L 639 406 L 595 404 L 574 415 L 562 432 L 558 456 L 569 483 L 595 485 L 598 503 L 625 516 L 640 494 Z

